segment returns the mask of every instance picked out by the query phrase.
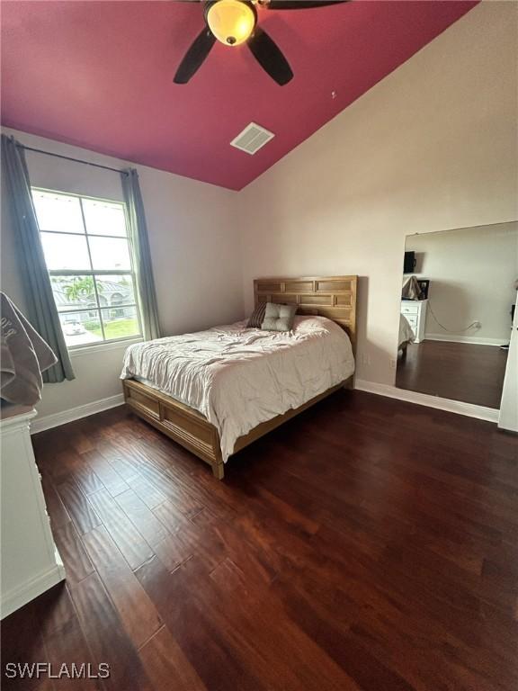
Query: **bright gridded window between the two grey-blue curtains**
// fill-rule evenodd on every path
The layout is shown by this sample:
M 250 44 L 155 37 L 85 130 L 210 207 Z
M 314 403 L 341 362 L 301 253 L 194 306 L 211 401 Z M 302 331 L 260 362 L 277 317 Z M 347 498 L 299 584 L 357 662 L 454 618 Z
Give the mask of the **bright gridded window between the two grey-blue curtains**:
M 140 336 L 124 204 L 32 189 L 68 347 Z

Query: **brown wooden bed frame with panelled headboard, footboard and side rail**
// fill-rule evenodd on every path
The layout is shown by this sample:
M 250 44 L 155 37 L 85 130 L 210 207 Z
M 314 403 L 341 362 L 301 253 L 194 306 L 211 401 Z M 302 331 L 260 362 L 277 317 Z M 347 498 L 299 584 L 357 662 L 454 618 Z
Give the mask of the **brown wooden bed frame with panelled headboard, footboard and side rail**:
M 261 302 L 296 304 L 297 314 L 315 314 L 332 319 L 347 332 L 355 352 L 356 287 L 357 276 L 259 278 L 254 281 L 255 306 Z M 299 408 L 288 410 L 254 427 L 247 435 L 237 439 L 234 453 L 341 389 L 348 381 L 342 381 Z M 178 444 L 182 444 L 202 461 L 209 463 L 214 476 L 218 480 L 223 479 L 224 463 L 221 458 L 219 432 L 206 417 L 139 381 L 124 380 L 122 388 L 124 399 L 133 412 Z

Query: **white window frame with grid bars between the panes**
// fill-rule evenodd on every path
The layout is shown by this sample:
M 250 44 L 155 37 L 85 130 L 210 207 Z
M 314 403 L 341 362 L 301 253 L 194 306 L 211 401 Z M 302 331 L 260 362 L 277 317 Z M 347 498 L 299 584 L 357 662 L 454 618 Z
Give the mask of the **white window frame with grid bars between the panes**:
M 119 200 L 116 199 L 105 199 L 103 197 L 93 197 L 88 194 L 77 194 L 73 192 L 65 192 L 64 190 L 51 190 L 46 187 L 31 187 L 31 193 L 38 193 L 38 192 L 45 192 L 45 193 L 50 193 L 50 194 L 62 194 L 67 197 L 76 197 L 76 199 L 79 200 L 79 207 L 81 209 L 81 218 L 83 220 L 83 229 L 84 233 L 73 233 L 69 232 L 66 230 L 42 230 L 40 229 L 40 235 L 43 233 L 47 233 L 49 235 L 69 235 L 69 236 L 74 236 L 74 237 L 80 237 L 83 238 L 85 237 L 86 239 L 86 248 L 88 252 L 88 260 L 90 263 L 90 268 L 89 269 L 48 269 L 49 271 L 49 276 L 92 276 L 93 282 L 94 282 L 94 292 L 95 292 L 95 304 L 96 307 L 84 307 L 82 309 L 77 309 L 77 310 L 59 310 L 58 305 L 56 305 L 56 310 L 58 310 L 58 315 L 61 314 L 82 314 L 85 312 L 97 312 L 98 318 L 99 318 L 99 324 L 101 327 L 101 334 L 103 337 L 103 340 L 101 341 L 92 341 L 91 343 L 84 343 L 84 344 L 77 344 L 76 346 L 69 346 L 67 345 L 67 349 L 71 351 L 71 353 L 78 353 L 80 351 L 89 351 L 91 349 L 111 349 L 112 347 L 116 347 L 118 344 L 121 345 L 128 345 L 128 342 L 137 342 L 141 341 L 143 339 L 143 331 L 142 331 L 142 318 L 140 315 L 140 307 L 138 305 L 138 295 L 137 295 L 137 274 L 135 271 L 135 266 L 133 265 L 133 247 L 131 243 L 131 238 L 129 237 L 129 225 L 128 225 L 128 211 L 126 209 L 126 204 L 124 202 L 120 202 Z M 126 239 L 128 242 L 128 249 L 129 249 L 129 262 L 130 262 L 130 268 L 129 269 L 94 269 L 94 265 L 92 263 L 92 253 L 90 251 L 90 241 L 89 241 L 89 234 L 86 228 L 86 221 L 85 221 L 85 211 L 83 209 L 83 200 L 91 200 L 93 202 L 107 202 L 110 204 L 119 204 L 122 207 L 122 210 L 124 211 L 124 221 L 126 224 L 126 236 L 121 237 L 120 235 L 107 235 L 107 234 L 98 234 L 95 233 L 91 237 L 93 238 L 117 238 L 117 239 Z M 135 302 L 128 302 L 128 303 L 123 303 L 121 305 L 116 305 L 115 307 L 108 306 L 108 307 L 103 307 L 101 305 L 101 302 L 99 300 L 99 292 L 97 291 L 97 283 L 95 281 L 96 276 L 117 276 L 117 275 L 124 275 L 124 276 L 129 276 L 131 278 L 131 283 L 133 285 L 133 289 L 135 292 Z M 52 296 L 54 297 L 54 292 L 52 292 Z M 127 308 L 127 307 L 133 307 L 135 308 L 135 312 L 137 314 L 137 323 L 138 323 L 138 334 L 132 334 L 131 336 L 126 336 L 126 337 L 121 337 L 121 338 L 109 338 L 107 339 L 105 337 L 104 333 L 104 324 L 103 324 L 103 310 L 109 310 L 109 309 L 119 309 L 119 308 Z

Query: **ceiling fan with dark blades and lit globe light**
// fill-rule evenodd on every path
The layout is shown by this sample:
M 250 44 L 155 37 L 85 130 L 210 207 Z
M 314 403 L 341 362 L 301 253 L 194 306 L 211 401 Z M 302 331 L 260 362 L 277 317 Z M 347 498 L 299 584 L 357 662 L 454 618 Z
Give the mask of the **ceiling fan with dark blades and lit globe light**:
M 348 0 L 183 0 L 204 4 L 205 26 L 183 57 L 174 75 L 175 84 L 187 84 L 210 49 L 219 40 L 226 46 L 246 43 L 257 62 L 277 84 L 288 84 L 293 76 L 288 60 L 277 44 L 258 25 L 256 7 L 265 10 L 306 10 Z

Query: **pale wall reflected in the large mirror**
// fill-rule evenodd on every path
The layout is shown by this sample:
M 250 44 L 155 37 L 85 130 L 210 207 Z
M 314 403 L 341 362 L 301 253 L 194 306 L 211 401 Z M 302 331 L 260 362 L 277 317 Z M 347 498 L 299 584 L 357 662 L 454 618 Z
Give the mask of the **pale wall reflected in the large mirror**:
M 415 251 L 415 275 L 431 282 L 424 337 L 509 342 L 518 280 L 518 223 L 415 235 L 406 238 L 406 249 Z M 467 329 L 474 321 L 480 328 Z

